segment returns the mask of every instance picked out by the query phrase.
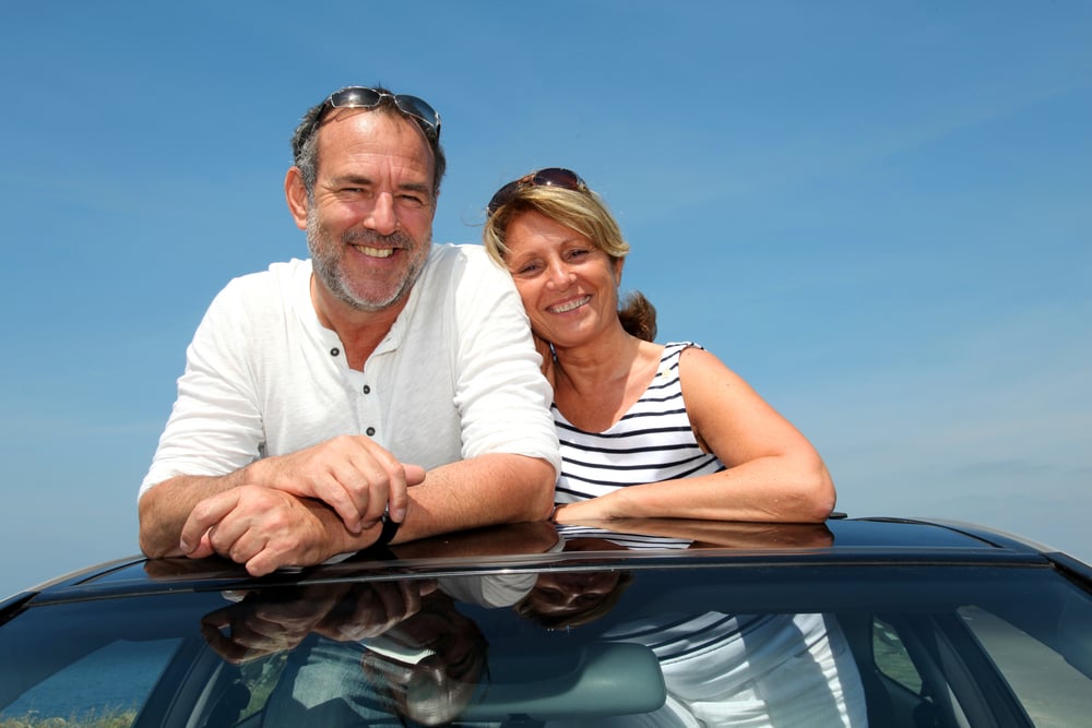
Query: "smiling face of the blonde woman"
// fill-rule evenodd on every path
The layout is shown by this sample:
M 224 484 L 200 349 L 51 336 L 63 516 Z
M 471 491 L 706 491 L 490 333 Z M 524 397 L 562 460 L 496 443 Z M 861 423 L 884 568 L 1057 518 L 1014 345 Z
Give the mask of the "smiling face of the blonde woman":
M 621 259 L 533 211 L 509 223 L 505 244 L 505 262 L 541 337 L 566 348 L 618 325 Z

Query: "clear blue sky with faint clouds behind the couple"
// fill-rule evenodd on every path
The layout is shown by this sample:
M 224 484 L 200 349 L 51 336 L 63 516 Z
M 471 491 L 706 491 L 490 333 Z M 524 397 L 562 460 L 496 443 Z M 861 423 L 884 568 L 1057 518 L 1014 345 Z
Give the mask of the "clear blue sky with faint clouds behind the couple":
M 579 171 L 661 341 L 804 430 L 839 510 L 1092 560 L 1088 2 L 17 3 L 0 59 L 0 596 L 136 551 L 185 347 L 306 255 L 288 136 L 355 83 L 442 115 L 439 241 Z

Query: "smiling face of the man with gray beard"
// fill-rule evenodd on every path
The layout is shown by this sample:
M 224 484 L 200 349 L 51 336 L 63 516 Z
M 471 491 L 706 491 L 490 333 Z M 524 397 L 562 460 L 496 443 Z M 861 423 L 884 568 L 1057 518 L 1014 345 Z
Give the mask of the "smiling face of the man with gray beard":
M 429 254 L 434 159 L 422 132 L 383 112 L 344 109 L 318 131 L 307 244 L 323 288 L 359 311 L 405 302 Z

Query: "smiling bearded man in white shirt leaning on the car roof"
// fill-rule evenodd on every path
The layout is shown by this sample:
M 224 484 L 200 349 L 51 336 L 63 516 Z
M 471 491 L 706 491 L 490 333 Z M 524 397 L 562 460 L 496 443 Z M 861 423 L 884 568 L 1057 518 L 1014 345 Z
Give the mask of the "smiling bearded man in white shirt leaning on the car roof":
M 431 243 L 439 133 L 384 88 L 305 115 L 285 195 L 311 261 L 205 314 L 141 486 L 146 554 L 261 575 L 549 512 L 557 435 L 519 296 L 480 248 Z

